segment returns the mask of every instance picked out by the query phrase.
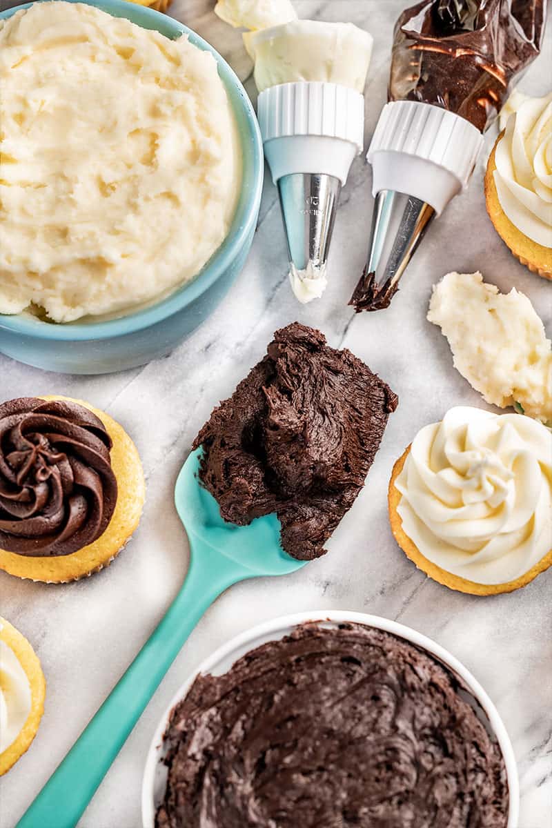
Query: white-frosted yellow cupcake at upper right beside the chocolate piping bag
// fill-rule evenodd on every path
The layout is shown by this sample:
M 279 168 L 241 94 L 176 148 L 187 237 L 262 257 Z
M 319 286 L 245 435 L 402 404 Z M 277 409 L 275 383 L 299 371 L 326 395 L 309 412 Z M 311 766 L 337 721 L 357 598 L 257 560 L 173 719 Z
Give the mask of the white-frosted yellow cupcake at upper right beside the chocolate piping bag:
M 487 212 L 511 252 L 552 279 L 552 92 L 521 99 L 492 150 Z

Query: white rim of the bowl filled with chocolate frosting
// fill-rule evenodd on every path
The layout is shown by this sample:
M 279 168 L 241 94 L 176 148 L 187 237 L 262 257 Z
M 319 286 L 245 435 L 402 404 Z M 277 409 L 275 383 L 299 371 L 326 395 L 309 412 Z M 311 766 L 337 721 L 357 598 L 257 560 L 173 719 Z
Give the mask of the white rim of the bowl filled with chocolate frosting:
M 497 737 L 497 742 L 504 758 L 506 781 L 508 784 L 509 803 L 506 828 L 517 828 L 520 807 L 520 787 L 514 749 L 512 748 L 506 726 L 502 722 L 502 718 L 498 713 L 496 706 L 478 680 L 472 675 L 467 667 L 464 667 L 463 663 L 460 662 L 458 658 L 452 655 L 452 653 L 440 644 L 434 642 L 432 638 L 428 638 L 428 636 L 423 633 L 419 633 L 417 630 L 407 627 L 406 624 L 386 619 L 379 615 L 335 609 L 317 609 L 281 615 L 276 619 L 271 619 L 270 621 L 265 621 L 264 623 L 257 624 L 254 627 L 247 628 L 242 633 L 238 633 L 238 635 L 233 636 L 233 638 L 231 638 L 228 642 L 223 643 L 220 647 L 217 647 L 214 652 L 204 658 L 204 660 L 199 664 L 199 667 L 196 667 L 194 671 L 190 673 L 190 675 L 180 685 L 179 689 L 175 692 L 174 696 L 172 696 L 169 705 L 167 705 L 166 710 L 163 712 L 146 753 L 146 762 L 142 777 L 143 828 L 154 828 L 155 826 L 156 768 L 160 763 L 161 744 L 170 713 L 175 705 L 186 696 L 188 691 L 190 691 L 190 687 L 192 686 L 195 678 L 199 676 L 200 673 L 204 674 L 212 672 L 218 663 L 228 660 L 228 657 L 231 657 L 233 653 L 236 653 L 237 651 L 247 652 L 247 649 L 259 646 L 261 642 L 259 642 L 258 639 L 260 638 L 263 639 L 263 642 L 276 640 L 276 638 L 282 638 L 290 632 L 291 628 L 295 628 L 302 623 L 310 621 L 327 621 L 334 624 L 347 622 L 362 623 L 368 627 L 375 627 L 385 630 L 387 633 L 393 633 L 394 635 L 404 638 L 406 641 L 427 650 L 431 653 L 431 655 L 437 657 L 439 661 L 444 662 L 447 667 L 450 667 L 454 672 L 456 672 L 458 676 L 460 676 L 468 685 L 469 689 L 473 692 L 473 696 L 482 706 L 482 710 L 484 710 L 487 715 L 487 718 L 492 726 L 492 730 Z M 243 649 L 244 647 L 246 650 Z M 235 655 L 233 662 L 240 657 L 242 652 L 238 652 L 238 654 Z

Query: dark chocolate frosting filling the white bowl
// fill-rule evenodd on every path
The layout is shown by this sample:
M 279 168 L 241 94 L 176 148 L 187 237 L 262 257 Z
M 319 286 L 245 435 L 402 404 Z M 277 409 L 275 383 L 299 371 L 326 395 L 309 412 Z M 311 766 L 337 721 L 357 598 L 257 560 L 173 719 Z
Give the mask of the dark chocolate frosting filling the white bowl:
M 176 705 L 156 828 L 506 828 L 505 764 L 477 709 L 402 638 L 303 625 Z

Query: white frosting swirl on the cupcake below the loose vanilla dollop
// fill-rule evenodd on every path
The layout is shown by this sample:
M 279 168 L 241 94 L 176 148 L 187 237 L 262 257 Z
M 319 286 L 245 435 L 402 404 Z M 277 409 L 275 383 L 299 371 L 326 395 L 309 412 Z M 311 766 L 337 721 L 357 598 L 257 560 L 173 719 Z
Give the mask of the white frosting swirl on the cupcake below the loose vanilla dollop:
M 508 583 L 552 546 L 552 433 L 530 417 L 451 408 L 415 437 L 396 488 L 403 531 L 461 578 Z

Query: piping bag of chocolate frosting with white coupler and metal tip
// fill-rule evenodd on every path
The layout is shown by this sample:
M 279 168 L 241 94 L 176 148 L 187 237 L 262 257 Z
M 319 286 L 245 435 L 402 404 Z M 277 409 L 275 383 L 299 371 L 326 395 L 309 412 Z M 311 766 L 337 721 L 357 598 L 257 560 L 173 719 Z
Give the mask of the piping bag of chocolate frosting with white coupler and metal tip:
M 389 306 L 431 221 L 468 185 L 482 133 L 539 54 L 545 11 L 546 0 L 422 0 L 399 17 L 367 154 L 376 204 L 358 312 Z

